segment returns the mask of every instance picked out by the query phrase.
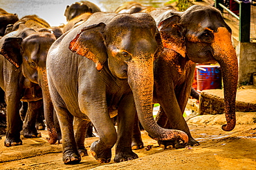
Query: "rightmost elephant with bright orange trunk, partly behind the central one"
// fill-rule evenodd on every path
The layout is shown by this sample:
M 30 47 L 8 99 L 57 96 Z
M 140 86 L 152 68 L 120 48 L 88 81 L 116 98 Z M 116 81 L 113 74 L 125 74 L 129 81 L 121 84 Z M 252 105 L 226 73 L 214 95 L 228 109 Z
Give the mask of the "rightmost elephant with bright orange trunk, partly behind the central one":
M 192 138 L 183 111 L 191 92 L 196 63 L 219 63 L 223 73 L 224 105 L 227 124 L 235 127 L 237 92 L 237 54 L 231 42 L 231 29 L 221 13 L 210 6 L 192 6 L 185 12 L 154 10 L 150 12 L 158 25 L 165 48 L 154 60 L 154 103 L 161 105 L 157 122 L 161 127 L 179 129 L 189 136 L 188 145 L 199 145 Z M 169 120 L 169 122 L 168 122 Z M 141 147 L 138 128 L 134 145 Z M 158 141 L 165 148 L 170 141 Z

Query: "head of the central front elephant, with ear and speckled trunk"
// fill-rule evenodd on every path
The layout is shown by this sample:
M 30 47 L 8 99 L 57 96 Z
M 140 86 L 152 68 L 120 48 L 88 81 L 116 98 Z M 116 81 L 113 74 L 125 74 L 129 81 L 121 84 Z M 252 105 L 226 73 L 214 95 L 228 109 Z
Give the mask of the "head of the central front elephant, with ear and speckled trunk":
M 107 24 L 83 28 L 71 41 L 69 49 L 91 59 L 98 71 L 107 62 L 113 76 L 127 79 L 134 94 L 138 118 L 149 136 L 156 140 L 188 142 L 183 131 L 163 129 L 152 116 L 153 61 L 162 45 L 155 24 L 146 13 L 116 14 Z

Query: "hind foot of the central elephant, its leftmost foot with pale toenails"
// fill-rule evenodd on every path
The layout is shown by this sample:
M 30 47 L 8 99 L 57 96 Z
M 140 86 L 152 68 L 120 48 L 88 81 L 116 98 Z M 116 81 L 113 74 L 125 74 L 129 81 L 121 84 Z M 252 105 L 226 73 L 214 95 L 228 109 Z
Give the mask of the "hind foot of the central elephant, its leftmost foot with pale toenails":
M 77 164 L 80 161 L 81 161 L 81 156 L 74 149 L 66 149 L 66 151 L 64 151 L 63 153 L 64 164 Z

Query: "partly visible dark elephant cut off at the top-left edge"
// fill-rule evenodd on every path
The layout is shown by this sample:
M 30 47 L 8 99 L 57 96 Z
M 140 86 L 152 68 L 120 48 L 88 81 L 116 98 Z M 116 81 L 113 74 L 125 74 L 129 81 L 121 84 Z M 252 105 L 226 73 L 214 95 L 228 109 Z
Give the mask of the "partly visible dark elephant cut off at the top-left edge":
M 3 36 L 6 32 L 7 25 L 13 24 L 19 21 L 17 14 L 10 14 L 0 8 L 0 36 Z

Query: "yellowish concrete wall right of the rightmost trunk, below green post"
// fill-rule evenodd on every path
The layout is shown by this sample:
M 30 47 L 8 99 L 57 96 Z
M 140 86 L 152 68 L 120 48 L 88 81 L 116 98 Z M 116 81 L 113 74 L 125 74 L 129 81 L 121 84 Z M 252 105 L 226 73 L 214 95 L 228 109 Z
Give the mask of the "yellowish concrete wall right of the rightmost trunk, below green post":
M 239 65 L 239 84 L 253 82 L 252 74 L 256 72 L 256 43 L 241 43 L 233 38 Z

